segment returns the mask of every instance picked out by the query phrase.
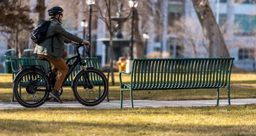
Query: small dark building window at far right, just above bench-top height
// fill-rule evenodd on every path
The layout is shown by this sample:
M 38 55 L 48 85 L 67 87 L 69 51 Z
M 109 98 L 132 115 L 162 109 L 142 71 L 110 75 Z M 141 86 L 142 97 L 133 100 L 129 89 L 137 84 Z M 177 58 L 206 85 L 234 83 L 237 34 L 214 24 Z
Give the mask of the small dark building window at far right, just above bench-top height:
M 240 48 L 238 50 L 239 60 L 254 60 L 254 49 Z

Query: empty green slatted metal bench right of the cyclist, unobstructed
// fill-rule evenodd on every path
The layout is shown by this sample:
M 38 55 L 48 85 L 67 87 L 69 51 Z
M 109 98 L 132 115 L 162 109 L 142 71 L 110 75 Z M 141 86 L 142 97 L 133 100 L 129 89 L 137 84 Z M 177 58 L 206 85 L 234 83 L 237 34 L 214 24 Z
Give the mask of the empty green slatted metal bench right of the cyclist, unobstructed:
M 122 108 L 123 91 L 166 89 L 217 89 L 227 88 L 230 105 L 230 74 L 234 58 L 161 58 L 134 59 L 129 73 L 119 73 Z M 122 83 L 122 74 L 131 75 L 129 84 Z

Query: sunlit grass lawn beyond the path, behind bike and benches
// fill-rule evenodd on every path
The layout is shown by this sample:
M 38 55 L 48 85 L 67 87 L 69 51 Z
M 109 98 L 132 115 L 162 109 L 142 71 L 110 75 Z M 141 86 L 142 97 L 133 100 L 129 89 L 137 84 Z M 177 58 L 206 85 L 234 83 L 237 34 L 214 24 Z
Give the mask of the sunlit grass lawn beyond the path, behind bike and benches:
M 111 81 L 111 80 L 110 80 Z M 130 78 L 122 75 L 122 81 L 129 83 Z M 232 73 L 231 98 L 256 98 L 256 74 Z M 115 73 L 115 86 L 109 87 L 111 100 L 120 100 L 119 74 Z M 124 100 L 130 100 L 129 92 L 124 92 Z M 0 74 L 0 102 L 10 102 L 12 97 L 12 75 Z M 220 89 L 220 98 L 227 99 L 227 89 Z M 61 96 L 64 101 L 74 101 L 71 87 L 64 87 Z M 134 100 L 207 100 L 216 99 L 215 89 L 184 89 L 165 91 L 134 91 Z

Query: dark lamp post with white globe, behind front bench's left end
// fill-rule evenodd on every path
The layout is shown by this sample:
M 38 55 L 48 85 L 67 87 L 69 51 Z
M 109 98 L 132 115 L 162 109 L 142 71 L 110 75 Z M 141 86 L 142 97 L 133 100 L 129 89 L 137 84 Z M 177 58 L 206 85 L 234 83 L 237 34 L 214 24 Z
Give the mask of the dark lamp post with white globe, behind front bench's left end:
M 130 44 L 130 60 L 133 60 L 133 28 L 134 28 L 134 8 L 137 8 L 138 2 L 137 0 L 129 0 L 129 7 L 132 8 L 131 15 L 131 44 Z

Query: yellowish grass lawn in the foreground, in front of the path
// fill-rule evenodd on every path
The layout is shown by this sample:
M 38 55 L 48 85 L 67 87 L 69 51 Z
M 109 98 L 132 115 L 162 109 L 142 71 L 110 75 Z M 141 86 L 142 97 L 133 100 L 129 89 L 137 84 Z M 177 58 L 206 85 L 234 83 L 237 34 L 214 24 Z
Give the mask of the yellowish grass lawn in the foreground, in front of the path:
M 255 119 L 256 105 L 0 110 L 0 136 L 256 136 Z

